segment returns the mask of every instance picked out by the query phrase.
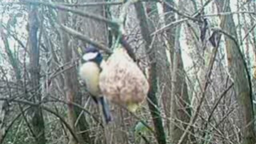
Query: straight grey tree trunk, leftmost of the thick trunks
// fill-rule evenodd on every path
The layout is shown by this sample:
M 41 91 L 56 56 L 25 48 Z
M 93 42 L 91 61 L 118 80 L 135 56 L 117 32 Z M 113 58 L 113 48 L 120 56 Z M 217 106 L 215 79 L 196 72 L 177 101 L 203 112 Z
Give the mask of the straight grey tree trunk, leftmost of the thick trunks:
M 37 32 L 39 28 L 39 21 L 37 16 L 37 7 L 32 6 L 29 9 L 28 15 L 29 24 L 29 73 L 30 73 L 30 86 L 32 91 L 34 103 L 41 101 L 41 91 L 37 87 L 40 85 L 40 49 L 37 43 Z M 37 144 L 45 144 L 46 138 L 44 135 L 44 118 L 42 109 L 40 107 L 32 107 L 32 131 L 35 135 L 35 141 Z

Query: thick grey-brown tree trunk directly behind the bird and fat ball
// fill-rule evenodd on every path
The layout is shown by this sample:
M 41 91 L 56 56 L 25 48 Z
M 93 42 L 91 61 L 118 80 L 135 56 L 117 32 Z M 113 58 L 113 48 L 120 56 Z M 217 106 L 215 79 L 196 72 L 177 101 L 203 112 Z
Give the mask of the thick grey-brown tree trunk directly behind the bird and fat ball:
M 82 1 L 82 0 L 80 0 Z M 87 2 L 104 2 L 104 0 L 87 0 Z M 84 11 L 88 13 L 94 13 L 95 15 L 106 16 L 107 6 L 90 6 L 82 8 Z M 108 45 L 108 30 L 107 24 L 104 22 L 99 22 L 91 18 L 83 18 L 83 33 L 87 35 L 94 41 L 97 41 L 104 46 Z M 84 43 L 84 46 L 88 46 Z M 92 101 L 92 105 L 101 118 L 103 118 L 102 107 L 101 105 L 96 105 L 94 101 Z M 112 113 L 113 121 L 104 126 L 103 129 L 103 139 L 96 138 L 97 143 L 106 143 L 106 144 L 128 144 L 128 136 L 127 129 L 125 129 L 125 114 L 126 112 L 120 110 L 118 106 L 110 106 L 110 112 Z M 104 121 L 104 119 L 103 119 Z

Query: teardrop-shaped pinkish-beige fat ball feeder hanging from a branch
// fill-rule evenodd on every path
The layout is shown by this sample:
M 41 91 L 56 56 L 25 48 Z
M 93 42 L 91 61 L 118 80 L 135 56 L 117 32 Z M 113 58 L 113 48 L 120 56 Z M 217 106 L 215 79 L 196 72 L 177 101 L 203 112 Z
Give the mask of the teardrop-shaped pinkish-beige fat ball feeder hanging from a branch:
M 112 103 L 136 112 L 149 91 L 149 83 L 121 45 L 113 50 L 100 73 L 102 94 Z

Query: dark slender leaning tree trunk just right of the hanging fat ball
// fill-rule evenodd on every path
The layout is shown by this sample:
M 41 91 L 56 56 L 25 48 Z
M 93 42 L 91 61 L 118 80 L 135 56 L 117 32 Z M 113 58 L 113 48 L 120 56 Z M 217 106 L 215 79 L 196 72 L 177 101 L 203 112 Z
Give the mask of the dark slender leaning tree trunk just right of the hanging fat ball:
M 149 25 L 149 23 L 146 21 L 146 14 L 144 6 L 141 2 L 137 2 L 134 4 L 136 12 L 137 12 L 137 18 L 140 22 L 140 29 L 143 39 L 146 41 L 146 50 L 150 49 L 150 45 L 152 43 L 152 38 L 150 37 L 150 28 L 152 29 L 152 26 Z M 165 131 L 163 128 L 163 122 L 159 111 L 159 106 L 157 103 L 157 63 L 156 63 L 156 53 L 157 53 L 157 45 L 153 44 L 153 52 L 149 54 L 149 60 L 150 60 L 150 70 L 149 70 L 149 93 L 148 93 L 148 105 L 150 109 L 150 113 L 152 115 L 154 128 L 155 128 L 155 135 L 157 142 L 159 144 L 166 144 L 166 137 L 165 137 Z

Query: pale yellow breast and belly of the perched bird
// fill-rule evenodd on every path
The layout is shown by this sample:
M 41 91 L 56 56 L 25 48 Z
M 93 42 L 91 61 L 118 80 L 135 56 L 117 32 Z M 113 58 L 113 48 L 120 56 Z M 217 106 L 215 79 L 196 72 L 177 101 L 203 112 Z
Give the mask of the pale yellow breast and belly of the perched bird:
M 80 66 L 79 75 L 86 83 L 87 90 L 93 96 L 99 96 L 101 94 L 99 88 L 99 75 L 100 68 L 94 62 L 87 62 Z

